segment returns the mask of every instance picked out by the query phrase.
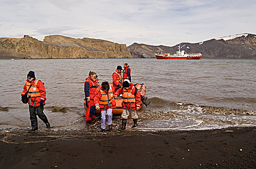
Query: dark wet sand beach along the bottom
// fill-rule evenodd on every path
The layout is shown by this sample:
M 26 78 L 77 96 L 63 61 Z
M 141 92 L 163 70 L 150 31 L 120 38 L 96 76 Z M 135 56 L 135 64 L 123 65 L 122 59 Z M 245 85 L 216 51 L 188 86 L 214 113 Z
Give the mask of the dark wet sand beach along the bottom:
M 250 169 L 256 128 L 204 131 L 0 131 L 0 168 Z

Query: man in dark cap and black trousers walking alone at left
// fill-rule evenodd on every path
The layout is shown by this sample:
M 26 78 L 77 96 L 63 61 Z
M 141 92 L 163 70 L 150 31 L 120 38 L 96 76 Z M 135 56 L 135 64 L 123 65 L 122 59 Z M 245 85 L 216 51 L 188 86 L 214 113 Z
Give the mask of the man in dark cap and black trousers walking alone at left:
M 30 132 L 38 130 L 37 126 L 37 117 L 46 124 L 46 127 L 49 128 L 50 124 L 45 115 L 44 105 L 46 101 L 46 90 L 44 83 L 40 79 L 35 78 L 35 74 L 33 71 L 30 71 L 27 75 L 27 82 L 23 87 L 23 91 L 21 93 L 21 99 L 25 99 L 25 94 L 28 92 L 29 97 L 29 111 L 30 111 L 30 121 L 31 127 Z

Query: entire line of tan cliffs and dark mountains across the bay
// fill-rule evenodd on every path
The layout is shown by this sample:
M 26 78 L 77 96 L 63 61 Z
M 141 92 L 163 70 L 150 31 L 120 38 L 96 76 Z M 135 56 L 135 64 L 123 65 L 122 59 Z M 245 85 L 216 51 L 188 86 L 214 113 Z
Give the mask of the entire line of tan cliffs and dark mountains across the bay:
M 244 33 L 198 43 L 181 43 L 188 53 L 201 53 L 202 58 L 256 58 L 256 35 Z M 49 35 L 43 41 L 31 36 L 0 38 L 0 59 L 38 58 L 155 58 L 155 53 L 175 53 L 178 45 L 114 43 L 100 39 L 75 39 Z

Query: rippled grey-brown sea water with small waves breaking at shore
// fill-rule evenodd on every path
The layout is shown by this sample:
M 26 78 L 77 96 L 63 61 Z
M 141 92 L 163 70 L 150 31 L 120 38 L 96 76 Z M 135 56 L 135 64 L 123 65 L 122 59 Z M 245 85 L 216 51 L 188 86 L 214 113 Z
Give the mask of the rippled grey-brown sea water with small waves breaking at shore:
M 132 83 L 146 85 L 148 107 L 136 130 L 202 130 L 256 125 L 256 59 L 157 60 L 30 59 L 0 60 L 0 129 L 30 127 L 28 105 L 20 101 L 27 73 L 45 83 L 45 113 L 52 130 L 99 130 L 100 116 L 84 120 L 84 80 L 95 71 L 99 83 L 128 63 Z M 119 127 L 120 116 L 113 117 Z M 38 120 L 39 128 L 45 125 Z M 128 120 L 128 128 L 132 120 Z

